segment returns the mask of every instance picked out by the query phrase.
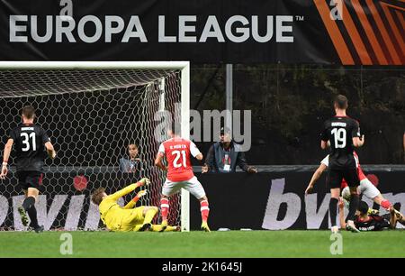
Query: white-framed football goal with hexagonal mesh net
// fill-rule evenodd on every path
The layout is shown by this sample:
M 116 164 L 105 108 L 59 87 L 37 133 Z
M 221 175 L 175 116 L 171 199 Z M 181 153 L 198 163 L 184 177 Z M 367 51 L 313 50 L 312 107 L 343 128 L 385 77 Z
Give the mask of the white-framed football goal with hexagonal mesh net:
M 147 196 L 137 206 L 159 207 L 166 173 L 154 160 L 166 136 L 156 132 L 161 124 L 156 115 L 170 112 L 182 121 L 182 134 L 188 137 L 188 62 L 0 62 L 3 144 L 21 123 L 26 105 L 36 108 L 35 122 L 58 152 L 54 161 L 46 160 L 44 191 L 36 205 L 46 230 L 100 228 L 92 191 L 104 187 L 113 193 L 143 177 L 151 179 L 151 185 L 144 188 Z M 129 144 L 138 146 L 136 161 L 128 161 Z M 14 156 L 12 152 L 11 170 L 0 189 L 0 227 L 20 230 L 17 207 L 23 191 L 17 186 Z M 121 198 L 120 204 L 137 191 Z M 180 225 L 183 213 L 182 228 L 188 230 L 188 209 L 181 210 L 181 197 L 171 198 L 169 223 Z M 160 223 L 160 216 L 154 223 Z

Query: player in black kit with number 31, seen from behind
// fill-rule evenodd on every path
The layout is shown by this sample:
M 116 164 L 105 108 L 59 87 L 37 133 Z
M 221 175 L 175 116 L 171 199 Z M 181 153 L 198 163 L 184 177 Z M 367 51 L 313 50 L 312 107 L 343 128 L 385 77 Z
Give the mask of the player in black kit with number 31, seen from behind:
M 8 169 L 8 159 L 13 145 L 16 152 L 16 176 L 19 186 L 23 189 L 25 199 L 23 206 L 18 208 L 24 226 L 28 225 L 30 216 L 30 227 L 37 233 L 43 231 L 43 225 L 38 224 L 37 209 L 35 201 L 41 190 L 43 164 L 46 158 L 45 150 L 50 158 L 56 157 L 56 152 L 48 134 L 37 124 L 33 124 L 35 109 L 32 106 L 23 107 L 23 124 L 15 127 L 9 135 L 4 147 L 4 157 L 0 179 L 5 179 Z

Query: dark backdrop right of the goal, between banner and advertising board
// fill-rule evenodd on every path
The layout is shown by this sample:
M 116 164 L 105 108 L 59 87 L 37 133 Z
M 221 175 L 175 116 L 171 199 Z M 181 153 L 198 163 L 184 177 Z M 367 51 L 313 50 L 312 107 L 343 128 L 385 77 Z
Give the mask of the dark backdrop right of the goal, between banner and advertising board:
M 235 65 L 233 107 L 252 110 L 247 161 L 261 165 L 317 164 L 323 122 L 344 94 L 360 123 L 364 164 L 403 164 L 405 69 L 321 65 Z M 193 65 L 191 108 L 225 109 L 225 65 Z M 198 143 L 207 152 L 209 143 Z

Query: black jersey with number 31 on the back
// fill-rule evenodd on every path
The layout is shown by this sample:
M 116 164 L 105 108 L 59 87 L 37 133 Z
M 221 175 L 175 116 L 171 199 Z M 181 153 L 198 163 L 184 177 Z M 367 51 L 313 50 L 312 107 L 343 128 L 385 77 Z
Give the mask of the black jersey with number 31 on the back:
M 43 172 L 47 156 L 44 144 L 50 142 L 48 134 L 36 124 L 20 124 L 9 135 L 14 140 L 17 171 Z

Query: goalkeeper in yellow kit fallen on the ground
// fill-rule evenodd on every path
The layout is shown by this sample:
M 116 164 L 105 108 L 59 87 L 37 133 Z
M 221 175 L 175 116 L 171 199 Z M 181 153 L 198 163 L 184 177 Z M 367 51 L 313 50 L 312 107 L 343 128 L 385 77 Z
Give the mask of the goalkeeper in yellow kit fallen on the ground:
M 135 207 L 139 198 L 146 194 L 141 190 L 135 198 L 125 206 L 121 207 L 117 201 L 119 198 L 129 194 L 133 190 L 149 185 L 149 179 L 140 179 L 135 184 L 121 189 L 112 195 L 107 195 L 105 189 L 96 189 L 92 195 L 92 201 L 100 209 L 100 217 L 103 224 L 111 231 L 161 231 L 161 225 L 152 225 L 153 218 L 157 215 L 157 207 L 141 206 Z M 135 207 L 135 208 L 134 208 Z M 180 227 L 166 225 L 165 231 L 179 231 Z

